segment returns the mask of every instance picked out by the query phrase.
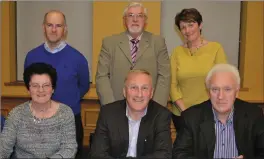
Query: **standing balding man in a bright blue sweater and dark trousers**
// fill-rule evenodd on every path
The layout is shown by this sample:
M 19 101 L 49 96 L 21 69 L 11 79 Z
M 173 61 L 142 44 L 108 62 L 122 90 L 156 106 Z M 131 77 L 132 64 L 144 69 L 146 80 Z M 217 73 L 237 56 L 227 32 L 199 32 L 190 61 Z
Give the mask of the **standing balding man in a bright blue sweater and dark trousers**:
M 88 92 L 90 84 L 88 62 L 78 50 L 65 42 L 67 24 L 62 12 L 47 12 L 42 27 L 46 42 L 29 51 L 24 68 L 32 63 L 44 62 L 56 69 L 58 80 L 52 99 L 68 105 L 74 112 L 78 156 L 83 146 L 80 100 Z

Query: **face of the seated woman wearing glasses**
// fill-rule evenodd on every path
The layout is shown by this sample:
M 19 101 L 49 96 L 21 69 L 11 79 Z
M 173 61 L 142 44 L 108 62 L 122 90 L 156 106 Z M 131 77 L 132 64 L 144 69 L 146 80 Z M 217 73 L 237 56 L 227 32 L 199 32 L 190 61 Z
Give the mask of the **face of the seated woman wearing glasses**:
M 53 93 L 52 83 L 49 75 L 35 74 L 29 82 L 29 94 L 32 101 L 38 104 L 45 104 L 50 101 Z

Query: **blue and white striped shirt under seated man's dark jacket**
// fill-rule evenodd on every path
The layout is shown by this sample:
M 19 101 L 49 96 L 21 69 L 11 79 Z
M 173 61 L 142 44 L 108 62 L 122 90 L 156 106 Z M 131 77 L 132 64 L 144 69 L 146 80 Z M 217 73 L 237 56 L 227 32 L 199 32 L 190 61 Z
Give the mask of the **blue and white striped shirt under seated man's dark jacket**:
M 238 156 L 236 147 L 235 131 L 233 124 L 234 109 L 228 116 L 226 124 L 222 124 L 213 109 L 215 121 L 215 150 L 214 158 L 234 158 Z

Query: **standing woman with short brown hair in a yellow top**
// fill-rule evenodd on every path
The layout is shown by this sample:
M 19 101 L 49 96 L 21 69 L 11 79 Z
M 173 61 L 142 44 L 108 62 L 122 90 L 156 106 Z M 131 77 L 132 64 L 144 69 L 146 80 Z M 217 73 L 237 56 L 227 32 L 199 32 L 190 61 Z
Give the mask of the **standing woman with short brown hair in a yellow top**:
M 178 131 L 181 112 L 209 99 L 205 77 L 215 64 L 226 63 L 226 55 L 221 44 L 201 36 L 202 16 L 195 8 L 178 13 L 175 25 L 185 40 L 173 50 L 170 59 L 172 119 Z

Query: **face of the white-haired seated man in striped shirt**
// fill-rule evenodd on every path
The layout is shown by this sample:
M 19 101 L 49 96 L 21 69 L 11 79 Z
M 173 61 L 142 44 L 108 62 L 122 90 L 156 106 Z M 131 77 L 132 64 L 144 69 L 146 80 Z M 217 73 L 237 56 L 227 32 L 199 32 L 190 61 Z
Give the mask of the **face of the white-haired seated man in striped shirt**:
M 211 77 L 209 96 L 217 113 L 231 112 L 238 92 L 239 86 L 231 72 L 218 72 Z

